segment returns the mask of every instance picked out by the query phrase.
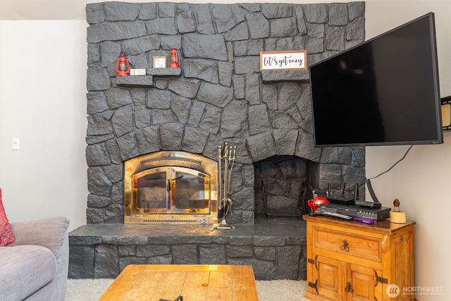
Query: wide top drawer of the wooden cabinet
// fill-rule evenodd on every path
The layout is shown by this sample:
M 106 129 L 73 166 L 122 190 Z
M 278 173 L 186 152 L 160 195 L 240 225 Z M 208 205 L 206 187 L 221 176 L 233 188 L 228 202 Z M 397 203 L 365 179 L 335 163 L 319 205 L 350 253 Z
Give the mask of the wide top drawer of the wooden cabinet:
M 381 238 L 313 227 L 312 246 L 321 250 L 349 254 L 381 262 Z

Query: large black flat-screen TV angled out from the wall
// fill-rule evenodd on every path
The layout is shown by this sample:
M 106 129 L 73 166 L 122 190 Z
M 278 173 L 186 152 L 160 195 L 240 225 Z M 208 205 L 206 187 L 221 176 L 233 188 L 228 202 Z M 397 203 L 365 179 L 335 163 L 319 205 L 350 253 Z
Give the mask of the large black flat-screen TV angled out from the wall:
M 433 13 L 309 73 L 315 147 L 443 143 Z

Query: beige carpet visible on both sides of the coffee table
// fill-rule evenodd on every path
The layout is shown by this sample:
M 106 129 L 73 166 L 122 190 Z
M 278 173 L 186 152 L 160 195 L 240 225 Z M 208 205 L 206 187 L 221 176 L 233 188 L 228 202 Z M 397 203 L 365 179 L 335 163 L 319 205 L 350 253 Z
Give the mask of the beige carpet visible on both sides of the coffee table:
M 113 279 L 69 279 L 65 301 L 97 301 Z M 304 301 L 306 281 L 257 281 L 260 301 Z M 193 300 L 185 300 L 193 301 Z M 197 300 L 194 300 L 197 301 Z M 255 300 L 247 300 L 255 301 Z

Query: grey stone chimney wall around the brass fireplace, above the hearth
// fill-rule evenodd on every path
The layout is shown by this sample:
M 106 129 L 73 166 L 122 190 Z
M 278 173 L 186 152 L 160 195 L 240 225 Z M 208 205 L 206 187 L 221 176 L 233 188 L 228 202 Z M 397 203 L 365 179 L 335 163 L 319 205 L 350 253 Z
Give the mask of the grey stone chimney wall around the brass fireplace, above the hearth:
M 358 183 L 364 195 L 349 149 L 313 147 L 308 70 L 259 69 L 260 51 L 307 49 L 312 64 L 364 41 L 364 2 L 104 2 L 86 13 L 87 223 L 124 222 L 126 161 L 166 151 L 216 160 L 224 142 L 237 146 L 229 223 L 254 223 L 254 163 L 272 156 L 313 163 L 314 188 Z M 152 68 L 172 47 L 180 68 Z M 121 51 L 147 75 L 118 77 Z M 354 152 L 364 162 L 364 148 Z

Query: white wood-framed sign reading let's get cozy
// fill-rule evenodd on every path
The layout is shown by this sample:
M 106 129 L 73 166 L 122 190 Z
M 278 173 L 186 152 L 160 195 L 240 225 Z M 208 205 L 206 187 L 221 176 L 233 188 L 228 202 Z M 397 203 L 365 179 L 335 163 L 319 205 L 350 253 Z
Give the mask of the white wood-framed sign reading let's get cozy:
M 261 51 L 260 70 L 307 69 L 307 51 Z

